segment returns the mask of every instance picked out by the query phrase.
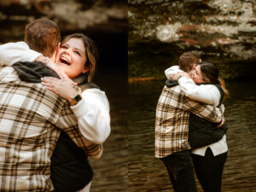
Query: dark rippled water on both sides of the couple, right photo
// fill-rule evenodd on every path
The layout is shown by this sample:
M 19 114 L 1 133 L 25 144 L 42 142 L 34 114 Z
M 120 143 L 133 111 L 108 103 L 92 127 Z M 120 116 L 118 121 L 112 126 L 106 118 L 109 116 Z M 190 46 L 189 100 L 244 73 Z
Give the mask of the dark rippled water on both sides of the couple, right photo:
M 154 113 L 163 82 L 129 84 L 130 192 L 172 191 L 165 166 L 154 157 Z M 229 82 L 224 102 L 229 154 L 224 192 L 256 191 L 256 81 Z M 198 183 L 199 191 L 202 191 Z

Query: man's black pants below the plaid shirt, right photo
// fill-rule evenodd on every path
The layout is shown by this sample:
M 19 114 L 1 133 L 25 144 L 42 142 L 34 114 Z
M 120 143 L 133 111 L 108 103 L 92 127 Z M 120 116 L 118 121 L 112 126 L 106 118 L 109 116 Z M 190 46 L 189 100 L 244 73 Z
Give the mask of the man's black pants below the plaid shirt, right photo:
M 196 192 L 190 150 L 170 154 L 160 160 L 165 164 L 175 192 Z

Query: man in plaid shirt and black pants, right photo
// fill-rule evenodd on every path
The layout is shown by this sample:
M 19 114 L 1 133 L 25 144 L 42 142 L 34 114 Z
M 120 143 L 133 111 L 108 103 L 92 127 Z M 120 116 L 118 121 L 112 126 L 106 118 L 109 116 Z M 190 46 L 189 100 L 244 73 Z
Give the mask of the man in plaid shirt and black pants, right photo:
M 179 68 L 190 73 L 198 61 L 197 55 L 183 54 Z M 218 123 L 223 110 L 189 99 L 179 85 L 162 90 L 156 108 L 155 156 L 165 164 L 176 192 L 197 191 L 188 141 L 189 113 Z

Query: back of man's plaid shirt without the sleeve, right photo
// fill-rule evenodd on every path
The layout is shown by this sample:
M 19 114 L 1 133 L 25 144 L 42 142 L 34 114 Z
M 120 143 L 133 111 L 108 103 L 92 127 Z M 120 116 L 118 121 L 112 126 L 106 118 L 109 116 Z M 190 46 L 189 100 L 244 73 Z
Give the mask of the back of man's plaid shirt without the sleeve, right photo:
M 162 158 L 168 154 L 189 149 L 189 112 L 175 108 L 182 105 L 183 92 L 180 86 L 166 86 L 161 92 L 156 107 L 155 156 Z

